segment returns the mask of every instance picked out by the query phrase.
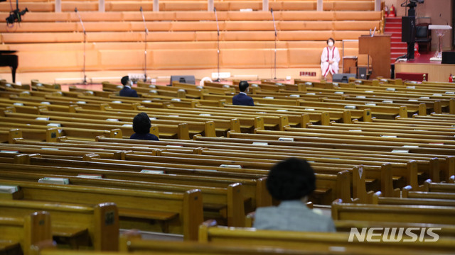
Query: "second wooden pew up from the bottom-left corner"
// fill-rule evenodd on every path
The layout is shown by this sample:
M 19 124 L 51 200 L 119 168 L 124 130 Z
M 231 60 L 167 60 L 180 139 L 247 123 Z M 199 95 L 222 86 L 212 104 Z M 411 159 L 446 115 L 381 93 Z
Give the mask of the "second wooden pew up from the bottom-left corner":
M 25 217 L 37 210 L 45 210 L 52 219 L 54 237 L 71 239 L 88 234 L 90 238 L 88 242 L 82 244 L 83 246 L 92 243 L 93 248 L 98 251 L 117 251 L 118 249 L 119 223 L 117 206 L 113 203 L 85 206 L 10 198 L 0 200 L 0 208 L 2 217 Z

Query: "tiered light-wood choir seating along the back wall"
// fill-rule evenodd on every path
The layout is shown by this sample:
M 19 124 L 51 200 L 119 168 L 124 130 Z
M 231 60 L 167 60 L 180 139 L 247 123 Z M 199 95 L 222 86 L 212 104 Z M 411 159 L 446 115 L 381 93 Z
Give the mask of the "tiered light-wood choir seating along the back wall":
M 26 5 L 27 3 L 23 3 Z M 97 13 L 95 1 L 62 3 L 62 13 L 53 12 L 53 2 L 31 2 L 14 33 L 4 28 L 4 47 L 18 50 L 19 71 L 80 70 L 84 40 L 77 7 L 87 30 L 87 70 L 140 69 L 144 8 L 148 67 L 151 69 L 213 68 L 216 66 L 217 26 L 207 2 L 161 1 L 160 12 L 141 1 L 107 1 L 106 12 Z M 327 38 L 356 39 L 381 27 L 381 13 L 373 1 L 325 1 L 316 11 L 316 1 L 271 1 L 278 29 L 277 67 L 316 68 Z M 240 9 L 252 8 L 252 12 Z M 220 64 L 223 68 L 269 68 L 272 65 L 274 27 L 272 15 L 262 11 L 261 1 L 217 1 L 220 21 Z M 8 16 L 9 6 L 0 5 Z M 68 11 L 68 12 L 67 12 Z M 96 13 L 96 14 L 94 14 Z M 33 36 L 29 36 L 33 33 Z M 37 50 L 36 44 L 39 44 Z M 126 46 L 127 45 L 127 46 Z M 341 47 L 341 43 L 336 45 Z M 346 43 L 346 55 L 357 55 L 357 45 Z M 80 54 L 78 54 L 80 53 Z M 46 56 L 46 57 L 43 57 Z M 302 57 L 305 56 L 305 57 Z M 53 60 L 60 61 L 55 62 Z M 39 60 L 40 64 L 33 64 Z

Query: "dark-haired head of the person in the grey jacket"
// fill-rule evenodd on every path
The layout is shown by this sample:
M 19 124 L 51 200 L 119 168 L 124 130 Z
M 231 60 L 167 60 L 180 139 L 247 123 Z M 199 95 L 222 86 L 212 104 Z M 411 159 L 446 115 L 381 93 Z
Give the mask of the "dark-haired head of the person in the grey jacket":
M 316 176 L 304 159 L 289 158 L 269 171 L 267 189 L 277 200 L 299 200 L 316 188 Z

